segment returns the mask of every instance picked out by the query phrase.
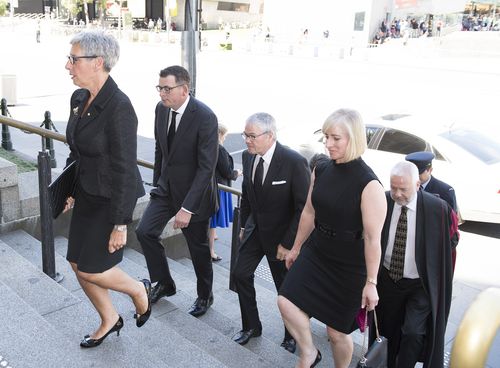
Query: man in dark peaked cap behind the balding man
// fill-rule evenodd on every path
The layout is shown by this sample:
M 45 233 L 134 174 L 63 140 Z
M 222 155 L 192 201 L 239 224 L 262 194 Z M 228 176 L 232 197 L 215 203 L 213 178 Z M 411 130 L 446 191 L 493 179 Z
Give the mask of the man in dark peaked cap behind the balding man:
M 410 153 L 405 159 L 417 165 L 422 190 L 437 195 L 446 201 L 455 213 L 458 213 L 457 199 L 453 187 L 431 175 L 432 160 L 435 157 L 432 152 L 422 151 Z

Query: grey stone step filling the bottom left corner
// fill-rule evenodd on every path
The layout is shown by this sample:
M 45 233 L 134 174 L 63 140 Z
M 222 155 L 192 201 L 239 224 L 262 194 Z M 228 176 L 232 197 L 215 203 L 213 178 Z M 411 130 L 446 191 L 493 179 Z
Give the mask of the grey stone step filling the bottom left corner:
M 63 334 L 28 305 L 14 290 L 0 281 L 1 366 L 11 367 L 92 367 Z

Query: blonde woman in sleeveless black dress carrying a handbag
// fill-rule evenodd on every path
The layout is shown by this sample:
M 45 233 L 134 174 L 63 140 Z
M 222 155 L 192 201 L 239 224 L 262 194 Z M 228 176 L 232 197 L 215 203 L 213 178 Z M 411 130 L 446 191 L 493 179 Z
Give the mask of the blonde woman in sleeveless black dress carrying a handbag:
M 356 314 L 360 307 L 371 310 L 378 303 L 380 234 L 387 204 L 382 185 L 361 159 L 366 133 L 359 113 L 337 110 L 322 130 L 331 160 L 319 162 L 312 174 L 297 236 L 286 257 L 289 271 L 278 306 L 300 347 L 297 367 L 314 367 L 321 360 L 309 325 L 314 317 L 327 326 L 335 367 L 347 368 Z

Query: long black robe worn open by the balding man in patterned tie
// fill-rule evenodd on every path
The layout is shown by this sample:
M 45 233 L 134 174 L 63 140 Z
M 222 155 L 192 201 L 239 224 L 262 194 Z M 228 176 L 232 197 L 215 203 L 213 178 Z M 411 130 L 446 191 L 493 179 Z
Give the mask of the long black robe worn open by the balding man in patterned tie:
M 415 262 L 431 305 L 431 317 L 426 335 L 425 364 L 442 367 L 444 357 L 444 334 L 451 306 L 452 259 L 449 233 L 450 211 L 448 204 L 436 196 L 418 191 L 417 222 L 415 232 Z M 382 230 L 383 267 L 394 200 L 387 196 L 387 216 Z M 383 298 L 383 295 L 380 295 Z M 386 336 L 399 341 L 400 336 Z

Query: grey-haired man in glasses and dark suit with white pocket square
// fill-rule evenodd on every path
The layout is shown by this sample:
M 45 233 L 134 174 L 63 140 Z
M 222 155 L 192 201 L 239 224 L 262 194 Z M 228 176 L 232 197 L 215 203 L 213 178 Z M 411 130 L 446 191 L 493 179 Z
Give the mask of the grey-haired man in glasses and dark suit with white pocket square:
M 233 271 L 243 325 L 233 340 L 240 345 L 262 334 L 254 273 L 266 256 L 276 290 L 281 287 L 286 275 L 284 260 L 293 245 L 310 182 L 306 159 L 276 141 L 276 122 L 271 115 L 251 115 L 242 137 L 248 148 L 243 152 L 244 228 Z M 286 329 L 281 346 L 295 352 L 295 340 Z

